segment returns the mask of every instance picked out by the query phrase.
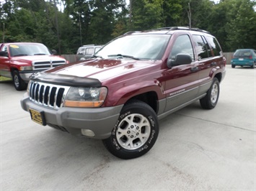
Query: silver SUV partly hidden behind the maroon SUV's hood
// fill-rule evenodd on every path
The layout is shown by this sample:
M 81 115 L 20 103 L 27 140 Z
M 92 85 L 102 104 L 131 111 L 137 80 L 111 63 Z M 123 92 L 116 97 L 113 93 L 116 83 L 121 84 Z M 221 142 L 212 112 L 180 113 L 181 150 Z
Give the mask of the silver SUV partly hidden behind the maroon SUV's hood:
M 76 55 L 79 55 L 79 60 L 87 60 L 101 48 L 102 45 L 84 45 L 82 47 L 79 47 L 79 49 L 76 52 Z

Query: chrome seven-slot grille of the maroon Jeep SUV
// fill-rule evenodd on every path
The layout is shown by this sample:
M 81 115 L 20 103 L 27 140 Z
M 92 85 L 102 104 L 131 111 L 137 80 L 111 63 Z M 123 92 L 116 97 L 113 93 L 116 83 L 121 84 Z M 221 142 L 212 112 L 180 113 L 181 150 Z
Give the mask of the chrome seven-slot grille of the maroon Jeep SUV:
M 61 108 L 69 86 L 39 83 L 30 80 L 30 101 L 50 108 Z

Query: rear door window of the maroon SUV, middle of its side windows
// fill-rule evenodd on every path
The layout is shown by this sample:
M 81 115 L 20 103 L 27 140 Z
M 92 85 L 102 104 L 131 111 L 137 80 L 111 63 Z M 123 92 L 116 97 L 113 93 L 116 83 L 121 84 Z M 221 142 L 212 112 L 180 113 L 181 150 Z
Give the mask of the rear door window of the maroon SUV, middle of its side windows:
M 193 39 L 195 41 L 198 60 L 211 57 L 211 50 L 208 43 L 206 42 L 205 37 L 201 35 L 193 35 Z

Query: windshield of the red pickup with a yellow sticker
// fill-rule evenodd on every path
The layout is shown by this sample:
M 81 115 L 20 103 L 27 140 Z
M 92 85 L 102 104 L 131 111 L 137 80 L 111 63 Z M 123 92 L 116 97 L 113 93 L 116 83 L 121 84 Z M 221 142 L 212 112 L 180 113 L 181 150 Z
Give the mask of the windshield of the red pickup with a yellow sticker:
M 28 55 L 51 55 L 48 48 L 41 44 L 9 45 L 12 57 Z

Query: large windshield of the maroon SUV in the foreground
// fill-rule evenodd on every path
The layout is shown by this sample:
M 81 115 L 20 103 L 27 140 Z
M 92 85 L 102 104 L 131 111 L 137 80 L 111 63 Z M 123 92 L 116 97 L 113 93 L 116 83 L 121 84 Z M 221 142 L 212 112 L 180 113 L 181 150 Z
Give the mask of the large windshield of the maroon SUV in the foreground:
M 169 34 L 138 34 L 120 37 L 105 45 L 96 56 L 160 60 L 170 37 Z

